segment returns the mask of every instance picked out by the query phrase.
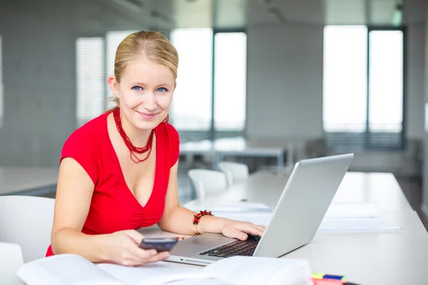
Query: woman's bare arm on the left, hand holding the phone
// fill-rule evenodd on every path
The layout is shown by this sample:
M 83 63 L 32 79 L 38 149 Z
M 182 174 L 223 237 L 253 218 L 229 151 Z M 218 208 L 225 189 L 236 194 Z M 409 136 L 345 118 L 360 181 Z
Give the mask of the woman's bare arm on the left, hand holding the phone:
M 59 167 L 54 226 L 51 245 L 54 254 L 78 254 L 86 259 L 113 261 L 135 266 L 165 259 L 156 250 L 138 247 L 143 235 L 135 230 L 113 234 L 89 235 L 81 232 L 88 216 L 93 194 L 93 181 L 73 158 L 66 157 Z

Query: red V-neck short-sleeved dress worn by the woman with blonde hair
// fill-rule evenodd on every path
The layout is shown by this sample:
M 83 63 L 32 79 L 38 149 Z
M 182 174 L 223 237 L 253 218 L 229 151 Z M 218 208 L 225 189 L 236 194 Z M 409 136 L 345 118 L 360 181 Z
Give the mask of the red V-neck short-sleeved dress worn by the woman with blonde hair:
M 156 170 L 153 191 L 146 206 L 133 196 L 108 137 L 107 115 L 94 118 L 75 130 L 63 145 L 61 160 L 72 157 L 91 177 L 95 188 L 84 234 L 111 234 L 124 229 L 139 229 L 156 224 L 162 217 L 170 167 L 179 155 L 178 133 L 172 125 L 155 128 Z M 152 152 L 153 155 L 153 152 Z M 60 160 L 60 161 L 61 161 Z M 46 257 L 54 255 L 51 246 Z

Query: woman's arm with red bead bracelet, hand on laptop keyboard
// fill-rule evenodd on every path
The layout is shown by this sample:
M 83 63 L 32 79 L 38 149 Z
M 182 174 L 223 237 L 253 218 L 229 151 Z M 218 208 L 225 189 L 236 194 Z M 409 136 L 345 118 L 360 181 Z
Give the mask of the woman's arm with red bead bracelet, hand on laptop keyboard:
M 190 209 L 180 207 L 180 202 L 178 201 L 177 171 L 178 162 L 170 169 L 168 190 L 165 197 L 165 209 L 161 220 L 158 222 L 158 226 L 167 232 L 192 235 L 196 233 L 196 227 L 193 224 L 193 216 L 196 213 L 190 211 Z M 215 216 L 203 216 L 200 218 L 198 224 L 198 232 L 201 234 L 204 232 L 223 233 L 228 237 L 236 237 L 238 239 L 246 239 L 248 237 L 247 234 L 261 236 L 264 229 L 265 227 L 256 226 L 252 223 L 237 222 Z

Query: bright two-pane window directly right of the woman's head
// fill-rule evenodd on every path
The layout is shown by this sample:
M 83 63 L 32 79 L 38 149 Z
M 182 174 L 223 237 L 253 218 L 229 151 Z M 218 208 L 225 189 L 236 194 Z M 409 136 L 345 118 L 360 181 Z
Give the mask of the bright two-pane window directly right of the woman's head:
M 180 57 L 170 109 L 171 123 L 180 137 L 192 140 L 242 135 L 246 113 L 246 33 L 175 29 L 170 41 Z

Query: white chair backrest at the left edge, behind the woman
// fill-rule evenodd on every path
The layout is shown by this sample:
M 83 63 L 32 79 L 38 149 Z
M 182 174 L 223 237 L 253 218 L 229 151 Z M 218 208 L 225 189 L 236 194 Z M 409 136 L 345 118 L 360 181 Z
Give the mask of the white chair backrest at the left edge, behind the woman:
M 46 256 L 51 244 L 55 199 L 0 196 L 0 242 L 19 244 L 24 261 Z

